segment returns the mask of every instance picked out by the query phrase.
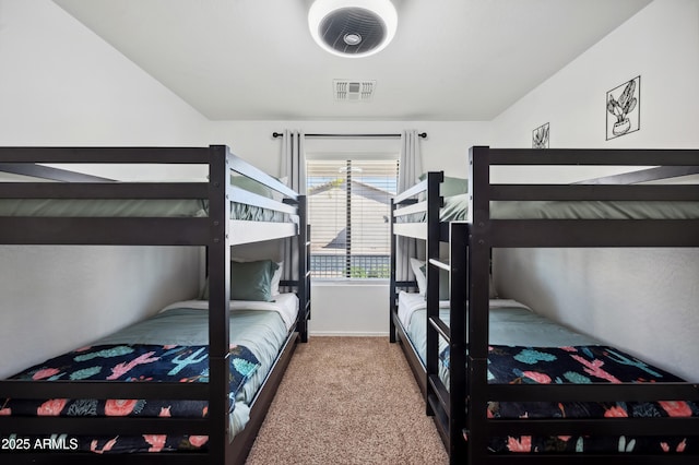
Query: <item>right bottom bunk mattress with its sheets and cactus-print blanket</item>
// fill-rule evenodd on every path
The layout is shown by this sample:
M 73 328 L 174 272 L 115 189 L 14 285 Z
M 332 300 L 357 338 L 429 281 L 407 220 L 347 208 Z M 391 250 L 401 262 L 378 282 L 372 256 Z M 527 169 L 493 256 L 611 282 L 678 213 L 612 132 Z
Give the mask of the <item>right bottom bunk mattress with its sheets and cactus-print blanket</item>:
M 449 322 L 449 302 L 439 314 Z M 425 297 L 401 291 L 399 319 L 423 363 L 426 354 Z M 577 333 L 507 299 L 489 303 L 489 383 L 682 382 L 660 368 Z M 449 389 L 449 347 L 440 338 L 439 377 Z M 695 402 L 489 402 L 489 418 L 699 417 Z M 465 434 L 465 432 L 464 432 Z M 509 436 L 489 438 L 496 453 L 642 452 L 699 450 L 699 437 Z

